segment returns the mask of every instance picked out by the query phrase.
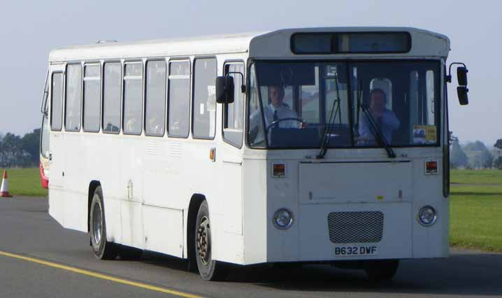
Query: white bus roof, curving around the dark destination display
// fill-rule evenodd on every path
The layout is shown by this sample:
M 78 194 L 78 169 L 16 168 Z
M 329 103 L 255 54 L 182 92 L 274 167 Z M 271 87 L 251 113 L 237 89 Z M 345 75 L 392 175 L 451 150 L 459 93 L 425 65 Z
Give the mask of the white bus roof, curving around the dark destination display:
M 298 57 L 289 48 L 294 33 L 303 32 L 408 32 L 413 47 L 406 56 L 447 57 L 450 40 L 441 34 L 410 27 L 317 27 L 280 29 L 268 32 L 224 34 L 192 38 L 175 38 L 130 43 L 106 42 L 90 45 L 71 45 L 52 50 L 50 62 L 66 62 L 96 59 L 134 59 L 139 57 L 181 57 L 190 55 L 216 55 L 250 52 L 251 57 Z M 418 42 L 417 42 L 418 41 Z M 277 44 L 277 46 L 275 46 Z M 287 44 L 287 46 L 284 46 Z M 337 56 L 372 56 L 375 54 L 352 54 Z M 302 55 L 308 57 L 309 55 Z M 319 55 L 314 55 L 319 57 Z M 380 55 L 378 56 L 385 56 Z M 401 55 L 402 56 L 402 55 Z

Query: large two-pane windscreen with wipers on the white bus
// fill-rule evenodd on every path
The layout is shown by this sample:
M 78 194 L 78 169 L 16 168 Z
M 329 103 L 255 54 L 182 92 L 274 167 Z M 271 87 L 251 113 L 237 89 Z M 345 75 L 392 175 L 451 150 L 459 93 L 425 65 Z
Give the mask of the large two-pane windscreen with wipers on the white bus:
M 429 61 L 255 62 L 248 143 L 380 147 L 380 134 L 391 146 L 437 145 L 437 80 Z

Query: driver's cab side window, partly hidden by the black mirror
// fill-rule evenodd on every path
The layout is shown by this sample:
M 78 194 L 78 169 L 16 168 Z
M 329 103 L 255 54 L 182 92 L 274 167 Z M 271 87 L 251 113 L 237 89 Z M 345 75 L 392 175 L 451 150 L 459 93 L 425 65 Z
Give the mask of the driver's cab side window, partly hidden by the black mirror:
M 234 78 L 234 102 L 223 107 L 223 138 L 234 146 L 241 147 L 243 143 L 244 93 L 241 92 L 244 74 L 243 63 L 225 64 L 225 74 Z

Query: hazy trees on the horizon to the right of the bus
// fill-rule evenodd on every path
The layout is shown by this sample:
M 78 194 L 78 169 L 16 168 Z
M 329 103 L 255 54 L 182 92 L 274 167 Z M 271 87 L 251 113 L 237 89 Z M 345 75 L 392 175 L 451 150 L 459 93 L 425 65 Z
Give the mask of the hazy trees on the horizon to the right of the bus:
M 451 137 L 450 166 L 452 169 L 502 169 L 502 139 L 492 150 L 481 141 L 461 145 L 459 139 Z

